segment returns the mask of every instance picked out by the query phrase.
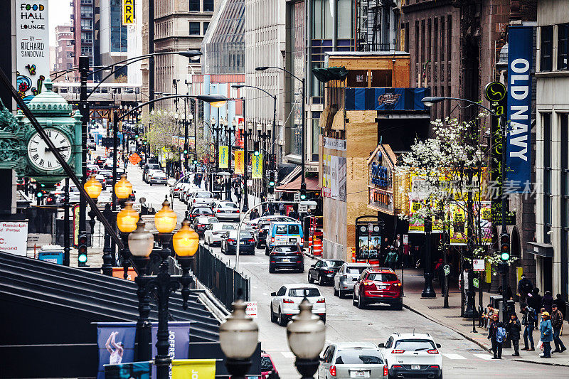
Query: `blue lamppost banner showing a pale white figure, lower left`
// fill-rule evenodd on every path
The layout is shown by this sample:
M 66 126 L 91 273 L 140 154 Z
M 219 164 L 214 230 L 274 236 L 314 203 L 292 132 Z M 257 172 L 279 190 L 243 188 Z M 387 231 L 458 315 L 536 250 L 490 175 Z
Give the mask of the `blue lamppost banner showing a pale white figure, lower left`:
M 97 323 L 97 346 L 99 346 L 97 379 L 105 378 L 104 365 L 119 365 L 134 361 L 136 333 L 137 324 L 134 322 Z

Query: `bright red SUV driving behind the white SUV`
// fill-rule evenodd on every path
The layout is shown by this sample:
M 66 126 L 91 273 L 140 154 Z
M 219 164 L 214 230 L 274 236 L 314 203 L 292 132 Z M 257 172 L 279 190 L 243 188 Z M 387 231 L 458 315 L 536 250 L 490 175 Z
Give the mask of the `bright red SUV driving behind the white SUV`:
M 368 304 L 389 304 L 403 309 L 403 292 L 397 274 L 391 269 L 365 269 L 353 286 L 353 305 L 364 309 Z

